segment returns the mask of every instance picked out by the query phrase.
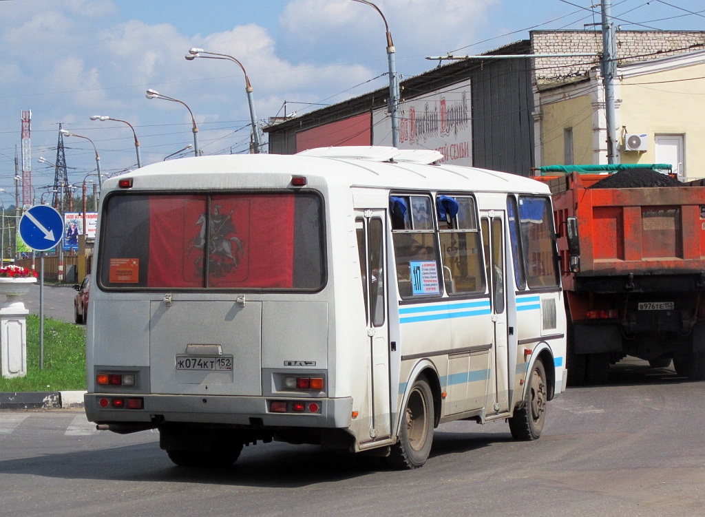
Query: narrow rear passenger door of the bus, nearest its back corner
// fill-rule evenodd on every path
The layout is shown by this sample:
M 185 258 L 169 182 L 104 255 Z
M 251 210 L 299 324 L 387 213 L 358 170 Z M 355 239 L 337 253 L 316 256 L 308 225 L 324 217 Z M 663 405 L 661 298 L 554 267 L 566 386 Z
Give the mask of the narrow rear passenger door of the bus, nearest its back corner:
M 391 435 L 389 396 L 389 331 L 387 314 L 386 214 L 384 210 L 356 212 L 357 249 L 369 336 L 371 439 Z

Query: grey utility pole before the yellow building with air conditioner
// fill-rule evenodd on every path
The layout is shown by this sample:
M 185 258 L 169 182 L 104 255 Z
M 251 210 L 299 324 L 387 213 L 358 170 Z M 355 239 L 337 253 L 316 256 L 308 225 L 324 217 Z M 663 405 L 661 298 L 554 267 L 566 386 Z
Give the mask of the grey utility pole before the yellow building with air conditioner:
M 607 124 L 607 163 L 619 162 L 617 123 L 615 115 L 615 80 L 617 77 L 617 36 L 612 22 L 611 0 L 602 3 L 602 60 L 600 68 L 605 86 L 605 118 Z

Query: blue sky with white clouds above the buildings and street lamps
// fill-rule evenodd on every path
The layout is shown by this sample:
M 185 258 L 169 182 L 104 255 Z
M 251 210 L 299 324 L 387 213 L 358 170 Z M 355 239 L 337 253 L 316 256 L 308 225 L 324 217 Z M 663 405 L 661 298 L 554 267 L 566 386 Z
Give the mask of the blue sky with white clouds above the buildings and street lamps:
M 427 56 L 479 54 L 529 30 L 592 29 L 597 0 L 376 0 L 403 77 L 434 68 Z M 702 0 L 612 0 L 623 30 L 705 30 Z M 257 119 L 303 114 L 388 85 L 384 21 L 355 0 L 0 0 L 0 201 L 14 205 L 20 112 L 32 111 L 32 187 L 51 198 L 59 124 L 90 138 L 104 176 L 193 143 L 203 154 L 247 152 L 245 79 L 230 61 L 184 59 L 188 49 L 228 54 L 250 78 Z M 64 137 L 69 182 L 97 180 L 88 140 Z M 176 154 L 169 159 L 186 155 Z M 192 155 L 192 154 L 191 154 Z M 21 189 L 20 189 L 21 190 Z M 78 190 L 80 192 L 80 190 Z M 21 200 L 20 200 L 21 202 Z

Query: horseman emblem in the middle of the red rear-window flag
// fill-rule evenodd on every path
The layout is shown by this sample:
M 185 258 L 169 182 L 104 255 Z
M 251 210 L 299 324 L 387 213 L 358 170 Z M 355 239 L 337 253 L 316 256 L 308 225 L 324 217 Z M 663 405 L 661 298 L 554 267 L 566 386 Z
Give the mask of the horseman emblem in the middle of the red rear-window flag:
M 244 255 L 244 243 L 237 236 L 233 223 L 233 210 L 227 215 L 221 214 L 222 205 L 215 205 L 208 220 L 208 272 L 210 276 L 220 277 L 238 270 Z M 198 235 L 192 239 L 192 248 L 203 250 L 206 245 L 206 214 L 201 214 L 196 221 L 201 226 Z M 194 263 L 197 271 L 203 267 L 203 255 Z

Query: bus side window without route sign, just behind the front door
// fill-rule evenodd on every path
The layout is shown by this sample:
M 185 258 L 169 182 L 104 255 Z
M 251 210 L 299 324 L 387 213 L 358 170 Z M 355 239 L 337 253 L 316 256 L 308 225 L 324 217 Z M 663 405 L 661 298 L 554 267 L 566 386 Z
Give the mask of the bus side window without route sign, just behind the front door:
M 443 281 L 448 295 L 484 293 L 480 235 L 473 197 L 452 198 L 458 211 L 451 217 L 448 196 L 439 196 L 439 238 L 443 260 Z M 441 205 L 443 203 L 443 205 Z

